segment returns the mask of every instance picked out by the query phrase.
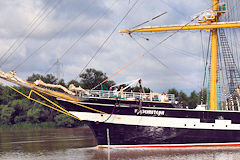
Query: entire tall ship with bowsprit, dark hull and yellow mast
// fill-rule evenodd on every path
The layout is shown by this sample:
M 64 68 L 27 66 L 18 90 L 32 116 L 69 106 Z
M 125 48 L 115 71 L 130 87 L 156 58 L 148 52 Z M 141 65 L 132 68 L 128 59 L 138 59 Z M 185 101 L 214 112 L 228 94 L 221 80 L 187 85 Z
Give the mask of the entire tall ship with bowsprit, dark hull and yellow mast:
M 141 79 L 133 82 L 139 84 L 140 92 L 125 92 L 129 86 L 118 91 L 85 90 L 75 86 L 67 89 L 41 80 L 29 83 L 14 72 L 1 71 L 0 77 L 31 89 L 29 95 L 16 91 L 33 101 L 32 93 L 44 99 L 46 97 L 40 93 L 55 97 L 60 105 L 46 100 L 55 106 L 53 109 L 86 123 L 99 147 L 240 146 L 240 73 L 226 36 L 226 28 L 240 27 L 240 21 L 224 21 L 222 16 L 227 12 L 228 1 L 213 0 L 209 10 L 191 20 L 194 23 L 120 31 L 129 35 L 162 31 L 173 31 L 174 34 L 186 30 L 210 32 L 211 63 L 206 67 L 207 104 L 199 104 L 196 109 L 183 108 L 172 94 L 145 93 Z M 222 79 L 225 87 L 220 85 Z M 220 90 L 225 97 L 219 96 Z

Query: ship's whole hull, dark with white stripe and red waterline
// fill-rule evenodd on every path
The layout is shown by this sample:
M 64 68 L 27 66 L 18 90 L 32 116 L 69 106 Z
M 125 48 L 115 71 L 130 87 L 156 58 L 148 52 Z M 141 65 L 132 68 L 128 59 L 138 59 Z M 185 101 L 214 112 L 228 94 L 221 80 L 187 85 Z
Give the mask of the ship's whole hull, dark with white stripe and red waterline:
M 99 147 L 240 146 L 240 112 L 59 100 L 92 130 Z M 160 106 L 163 106 L 162 103 Z M 169 104 L 166 103 L 169 107 Z

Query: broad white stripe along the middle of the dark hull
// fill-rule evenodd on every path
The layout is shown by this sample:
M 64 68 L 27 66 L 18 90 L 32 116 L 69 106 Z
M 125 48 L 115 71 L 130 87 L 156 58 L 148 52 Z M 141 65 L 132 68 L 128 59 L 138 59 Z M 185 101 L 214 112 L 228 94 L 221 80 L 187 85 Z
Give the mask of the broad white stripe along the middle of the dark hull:
M 77 111 L 70 111 L 70 113 L 80 118 L 81 120 L 104 122 L 111 124 L 240 131 L 240 124 L 232 124 L 231 120 L 216 119 L 215 123 L 205 123 L 200 122 L 200 119 L 198 118 L 150 117 L 136 115 L 114 115 L 114 114 L 109 115 Z

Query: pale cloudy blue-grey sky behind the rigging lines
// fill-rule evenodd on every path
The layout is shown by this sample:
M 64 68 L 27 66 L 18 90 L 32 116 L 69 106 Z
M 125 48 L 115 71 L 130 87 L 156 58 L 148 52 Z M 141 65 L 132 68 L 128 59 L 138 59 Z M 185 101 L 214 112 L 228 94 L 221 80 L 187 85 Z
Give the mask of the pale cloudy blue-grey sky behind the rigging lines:
M 26 79 L 28 75 L 30 76 L 35 72 L 45 73 L 46 70 L 56 62 L 57 58 L 61 57 L 66 49 L 94 23 L 113 2 L 114 0 L 106 0 L 93 3 L 93 6 L 82 13 L 71 26 L 68 26 L 61 34 L 21 66 L 21 68 L 18 69 L 18 75 Z M 90 3 L 91 1 L 69 0 L 59 4 L 44 23 L 39 26 L 29 39 L 23 43 L 21 48 L 16 51 L 16 55 L 9 59 L 6 66 L 3 67 L 4 71 L 11 70 L 19 61 L 22 61 L 42 43 L 46 42 L 58 32 L 62 26 L 79 15 Z M 108 14 L 63 57 L 61 63 L 63 64 L 63 73 L 66 81 L 76 77 L 133 3 L 134 1 L 129 0 L 118 1 L 113 8 L 110 9 Z M 0 2 L 0 15 L 2 19 L 0 21 L 0 56 L 10 46 L 10 42 L 13 42 L 18 36 L 24 37 L 24 35 L 19 34 L 31 22 L 31 19 L 33 19 L 41 8 L 43 8 L 44 4 L 44 1 L 36 2 L 34 0 L 24 0 L 24 2 L 19 0 Z M 53 5 L 53 3 L 51 3 L 51 5 Z M 89 67 L 102 70 L 106 72 L 107 75 L 111 75 L 144 52 L 128 35 L 120 34 L 118 32 L 120 29 L 135 26 L 165 11 L 168 12 L 166 15 L 147 25 L 186 23 L 190 21 L 192 15 L 208 7 L 209 2 L 203 2 L 202 0 L 140 1 L 137 7 L 133 9 L 106 43 L 101 52 L 91 62 Z M 150 39 L 149 41 L 137 36 L 136 39 L 146 48 L 151 48 L 167 35 L 169 35 L 169 33 L 143 35 L 143 37 L 148 37 Z M 199 35 L 200 33 L 178 33 L 164 42 L 162 46 L 154 49 L 152 54 L 189 81 L 193 83 L 201 82 L 202 77 L 200 76 L 202 76 L 201 68 L 203 66 L 200 59 L 201 39 Z M 170 49 L 167 49 L 166 47 L 169 48 L 169 46 Z M 173 49 L 173 47 L 175 49 Z M 196 58 L 185 56 L 182 52 L 191 52 Z M 197 57 L 200 58 L 198 59 Z M 55 68 L 51 70 L 51 72 L 54 71 Z M 172 87 L 182 90 L 186 89 L 188 91 L 198 89 L 197 87 L 189 85 L 183 79 L 179 79 L 179 77 L 160 65 L 148 54 L 145 54 L 141 60 L 120 72 L 113 80 L 122 82 L 139 77 L 143 79 L 143 84 L 159 92 L 161 92 L 161 90 L 166 91 Z

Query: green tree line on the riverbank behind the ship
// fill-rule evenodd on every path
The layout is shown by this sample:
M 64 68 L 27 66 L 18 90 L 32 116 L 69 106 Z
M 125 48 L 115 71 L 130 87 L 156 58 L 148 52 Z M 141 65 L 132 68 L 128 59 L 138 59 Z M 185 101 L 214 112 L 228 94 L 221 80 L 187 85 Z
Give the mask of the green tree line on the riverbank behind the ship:
M 34 82 L 41 79 L 45 83 L 60 84 L 68 87 L 70 84 L 75 86 L 81 86 L 85 89 L 91 89 L 97 86 L 99 83 L 107 79 L 106 73 L 95 70 L 93 68 L 86 69 L 86 71 L 79 75 L 80 80 L 71 80 L 65 83 L 63 79 L 58 79 L 52 74 L 40 75 L 33 74 L 27 78 L 27 81 Z M 115 85 L 114 81 L 108 80 L 104 83 L 104 88 L 109 89 Z M 28 95 L 30 90 L 24 87 L 14 86 L 17 90 Z M 103 89 L 98 86 L 96 89 Z M 139 87 L 130 88 L 132 91 L 139 91 Z M 150 92 L 149 88 L 144 88 L 146 92 Z M 194 107 L 200 101 L 200 94 L 195 91 L 188 97 L 184 92 L 178 92 L 176 89 L 168 90 L 168 93 L 175 94 L 179 98 L 179 101 L 183 102 L 184 106 Z M 36 95 L 32 95 L 41 102 L 47 103 L 45 100 L 39 98 Z M 50 100 L 58 103 L 53 97 L 48 97 Z M 82 125 L 78 120 L 75 120 L 67 115 L 54 111 L 50 108 L 40 105 L 26 99 L 19 93 L 13 91 L 7 86 L 0 85 L 0 128 L 13 127 L 77 127 Z

